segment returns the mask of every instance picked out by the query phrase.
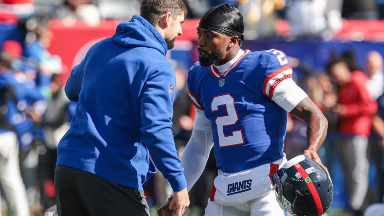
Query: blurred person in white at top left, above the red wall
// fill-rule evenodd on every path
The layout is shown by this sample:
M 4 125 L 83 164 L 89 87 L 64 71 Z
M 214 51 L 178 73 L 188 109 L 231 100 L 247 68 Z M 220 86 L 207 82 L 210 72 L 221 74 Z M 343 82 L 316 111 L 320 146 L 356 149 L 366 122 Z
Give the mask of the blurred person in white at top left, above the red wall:
M 65 0 L 54 12 L 54 18 L 64 21 L 84 20 L 90 26 L 100 23 L 100 13 L 91 0 Z

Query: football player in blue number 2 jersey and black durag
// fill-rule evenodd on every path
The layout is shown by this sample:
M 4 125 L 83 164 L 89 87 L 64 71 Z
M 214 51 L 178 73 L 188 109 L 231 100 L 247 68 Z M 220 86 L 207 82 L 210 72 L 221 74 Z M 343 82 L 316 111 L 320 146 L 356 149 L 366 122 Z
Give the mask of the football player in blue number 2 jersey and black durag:
M 211 8 L 200 20 L 199 62 L 188 74 L 196 117 L 181 164 L 191 189 L 213 146 L 219 173 L 206 216 L 283 216 L 269 178 L 287 161 L 287 112 L 307 123 L 303 154 L 321 165 L 317 150 L 327 120 L 292 80 L 283 52 L 241 49 L 243 30 L 242 15 L 229 4 Z M 167 215 L 168 203 L 159 214 Z

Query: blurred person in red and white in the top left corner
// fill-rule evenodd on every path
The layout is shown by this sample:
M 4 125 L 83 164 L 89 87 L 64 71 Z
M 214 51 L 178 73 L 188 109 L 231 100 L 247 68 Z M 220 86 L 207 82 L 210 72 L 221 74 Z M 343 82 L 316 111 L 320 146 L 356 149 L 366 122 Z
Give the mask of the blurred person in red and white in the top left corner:
M 33 0 L 0 0 L 0 8 L 8 9 L 19 18 L 29 18 L 35 11 Z

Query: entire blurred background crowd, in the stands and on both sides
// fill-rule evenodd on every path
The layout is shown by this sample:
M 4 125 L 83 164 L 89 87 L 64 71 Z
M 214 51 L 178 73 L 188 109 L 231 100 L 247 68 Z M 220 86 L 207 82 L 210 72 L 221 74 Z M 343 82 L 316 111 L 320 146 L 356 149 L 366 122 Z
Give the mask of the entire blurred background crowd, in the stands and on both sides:
M 103 19 L 127 19 L 139 14 L 140 0 L 0 0 L 0 21 L 17 20 L 25 44 L 0 42 L 0 215 L 38 215 L 55 204 L 53 185 L 58 141 L 69 128 L 76 103 L 63 91 L 61 59 L 47 51 L 52 33 L 50 19 L 71 23 L 84 20 L 96 26 Z M 280 18 L 288 20 L 291 37 L 330 38 L 342 18 L 380 19 L 384 0 L 185 0 L 187 18 L 199 18 L 212 5 L 228 2 L 243 13 L 247 39 L 273 37 Z M 320 149 L 331 171 L 337 158 L 344 172 L 347 208 L 361 215 L 367 205 L 384 198 L 384 73 L 383 57 L 366 54 L 359 68 L 347 51 L 331 56 L 323 71 L 289 57 L 296 82 L 325 113 L 328 136 Z M 177 85 L 173 105 L 173 135 L 178 154 L 192 133 L 194 109 L 188 97 L 188 68 L 171 60 Z M 285 152 L 288 159 L 301 154 L 306 126 L 288 118 Z M 376 170 L 369 185 L 369 164 Z M 217 168 L 211 153 L 206 170 L 191 191 L 192 215 L 201 215 Z M 161 173 L 145 184 L 150 206 L 161 205 L 171 188 Z M 347 214 L 347 213 L 346 213 Z

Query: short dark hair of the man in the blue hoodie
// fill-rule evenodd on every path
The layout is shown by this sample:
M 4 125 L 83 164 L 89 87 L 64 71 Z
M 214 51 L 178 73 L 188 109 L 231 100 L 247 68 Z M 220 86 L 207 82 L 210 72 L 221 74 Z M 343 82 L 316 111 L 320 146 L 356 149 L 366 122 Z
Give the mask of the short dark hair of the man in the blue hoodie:
M 187 13 L 187 6 L 182 0 L 143 0 L 140 7 L 140 16 L 156 25 L 161 16 L 170 12 L 172 15 Z M 175 19 L 177 16 L 173 16 Z

